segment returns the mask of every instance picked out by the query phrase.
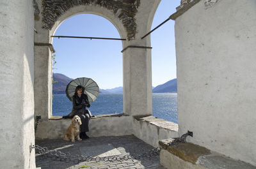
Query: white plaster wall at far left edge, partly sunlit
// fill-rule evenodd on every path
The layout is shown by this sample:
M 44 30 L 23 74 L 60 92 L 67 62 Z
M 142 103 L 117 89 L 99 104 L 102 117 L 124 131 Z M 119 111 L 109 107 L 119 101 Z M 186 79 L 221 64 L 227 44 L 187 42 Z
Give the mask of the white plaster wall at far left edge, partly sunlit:
M 32 1 L 0 1 L 0 168 L 35 168 Z

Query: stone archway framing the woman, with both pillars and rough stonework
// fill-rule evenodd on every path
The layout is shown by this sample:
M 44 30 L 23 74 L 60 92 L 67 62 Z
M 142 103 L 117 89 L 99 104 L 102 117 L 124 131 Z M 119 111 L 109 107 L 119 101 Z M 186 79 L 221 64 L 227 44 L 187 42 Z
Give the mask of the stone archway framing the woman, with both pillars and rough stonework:
M 41 117 L 41 125 L 52 128 L 52 62 L 51 36 L 61 22 L 80 13 L 91 13 L 107 18 L 118 30 L 123 45 L 124 115 L 152 115 L 152 73 L 150 36 L 141 37 L 150 31 L 154 13 L 161 0 L 81 1 L 38 0 L 40 14 L 35 20 L 35 116 Z M 40 93 L 40 95 L 38 95 Z M 124 121 L 131 123 L 132 119 Z M 50 119 L 50 121 L 49 121 Z M 40 124 L 40 123 L 39 123 Z M 115 128 L 122 128 L 116 124 Z M 44 129 L 38 130 L 42 133 Z M 60 126 L 58 126 L 60 128 Z M 46 130 L 46 129 L 45 129 Z M 129 125 L 131 133 L 132 125 Z M 45 131 L 44 131 L 45 132 Z M 61 129 L 37 137 L 60 136 Z M 56 133 L 57 132 L 57 133 Z M 124 131 L 122 131 L 124 132 Z M 123 135 L 124 133 L 117 133 Z M 128 132 L 128 133 L 129 133 Z M 44 135 L 44 136 L 43 136 Z

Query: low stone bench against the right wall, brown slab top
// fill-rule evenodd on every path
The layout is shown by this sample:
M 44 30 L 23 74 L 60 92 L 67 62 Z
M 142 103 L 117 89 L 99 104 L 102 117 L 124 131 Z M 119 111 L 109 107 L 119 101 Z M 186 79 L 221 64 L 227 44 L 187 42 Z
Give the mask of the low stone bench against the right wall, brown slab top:
M 160 163 L 168 169 L 256 169 L 243 161 L 227 158 L 193 143 L 170 145 L 174 139 L 160 140 Z

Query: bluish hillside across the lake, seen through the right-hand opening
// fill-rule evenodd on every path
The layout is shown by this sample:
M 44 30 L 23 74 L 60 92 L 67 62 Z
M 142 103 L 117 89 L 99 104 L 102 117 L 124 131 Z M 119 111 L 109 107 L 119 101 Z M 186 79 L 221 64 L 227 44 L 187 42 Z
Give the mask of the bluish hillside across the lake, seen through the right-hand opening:
M 152 92 L 177 92 L 177 78 L 174 78 L 165 84 L 157 85 Z

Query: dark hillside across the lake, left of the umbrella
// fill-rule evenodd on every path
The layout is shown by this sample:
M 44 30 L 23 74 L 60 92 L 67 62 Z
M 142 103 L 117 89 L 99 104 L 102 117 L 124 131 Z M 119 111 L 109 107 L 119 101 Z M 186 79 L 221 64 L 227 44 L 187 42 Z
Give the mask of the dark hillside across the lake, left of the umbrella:
M 65 94 L 68 83 L 73 80 L 72 78 L 66 77 L 61 73 L 52 73 L 52 78 L 53 81 L 56 81 L 54 84 L 52 84 L 53 94 Z

